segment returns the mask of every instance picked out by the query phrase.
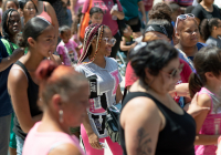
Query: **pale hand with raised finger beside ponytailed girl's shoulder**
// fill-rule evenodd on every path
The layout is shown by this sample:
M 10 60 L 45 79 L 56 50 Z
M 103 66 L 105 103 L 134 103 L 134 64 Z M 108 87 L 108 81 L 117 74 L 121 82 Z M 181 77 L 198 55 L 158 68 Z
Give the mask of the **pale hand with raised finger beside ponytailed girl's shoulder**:
M 198 93 L 192 99 L 191 104 L 188 107 L 187 113 L 190 114 L 192 117 L 199 115 L 202 111 L 210 111 L 210 107 L 201 107 L 197 104 L 198 101 Z

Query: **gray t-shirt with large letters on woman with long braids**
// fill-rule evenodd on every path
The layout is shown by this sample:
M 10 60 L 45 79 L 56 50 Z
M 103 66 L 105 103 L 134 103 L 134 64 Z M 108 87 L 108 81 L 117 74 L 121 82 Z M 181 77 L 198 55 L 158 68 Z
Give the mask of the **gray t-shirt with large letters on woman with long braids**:
M 91 96 L 88 117 L 93 131 L 99 138 L 106 137 L 105 130 L 106 108 L 116 104 L 116 92 L 122 76 L 118 72 L 118 64 L 112 58 L 105 58 L 105 69 L 95 63 L 83 63 L 75 68 L 90 81 Z M 84 62 L 90 62 L 88 58 Z

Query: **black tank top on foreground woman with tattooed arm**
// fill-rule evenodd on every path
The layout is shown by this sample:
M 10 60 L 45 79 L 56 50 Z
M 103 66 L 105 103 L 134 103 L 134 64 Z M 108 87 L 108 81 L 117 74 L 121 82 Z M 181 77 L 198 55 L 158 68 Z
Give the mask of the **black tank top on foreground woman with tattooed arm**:
M 194 155 L 196 122 L 192 116 L 186 112 L 183 115 L 176 114 L 154 96 L 144 92 L 128 93 L 123 102 L 123 108 L 131 99 L 138 96 L 151 99 L 166 118 L 165 128 L 159 132 L 155 155 Z M 127 155 L 122 126 L 119 133 L 124 155 Z

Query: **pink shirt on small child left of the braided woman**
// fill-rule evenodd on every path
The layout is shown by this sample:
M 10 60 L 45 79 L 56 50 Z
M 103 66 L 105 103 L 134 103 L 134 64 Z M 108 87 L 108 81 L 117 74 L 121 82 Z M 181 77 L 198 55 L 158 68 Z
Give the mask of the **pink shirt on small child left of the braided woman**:
M 67 43 L 61 41 L 56 48 L 56 52 L 60 55 L 63 55 L 64 65 L 71 65 L 71 58 L 70 54 L 74 54 L 74 60 L 77 61 L 77 53 L 75 48 L 77 48 L 77 43 L 70 39 Z

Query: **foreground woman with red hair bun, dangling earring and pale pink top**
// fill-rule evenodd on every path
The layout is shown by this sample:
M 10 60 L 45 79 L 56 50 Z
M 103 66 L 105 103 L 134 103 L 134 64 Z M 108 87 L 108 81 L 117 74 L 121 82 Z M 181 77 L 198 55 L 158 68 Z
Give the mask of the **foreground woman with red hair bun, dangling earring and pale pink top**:
M 69 128 L 87 116 L 88 81 L 73 68 L 44 60 L 35 72 L 40 85 L 43 117 L 24 142 L 23 155 L 84 155 Z

